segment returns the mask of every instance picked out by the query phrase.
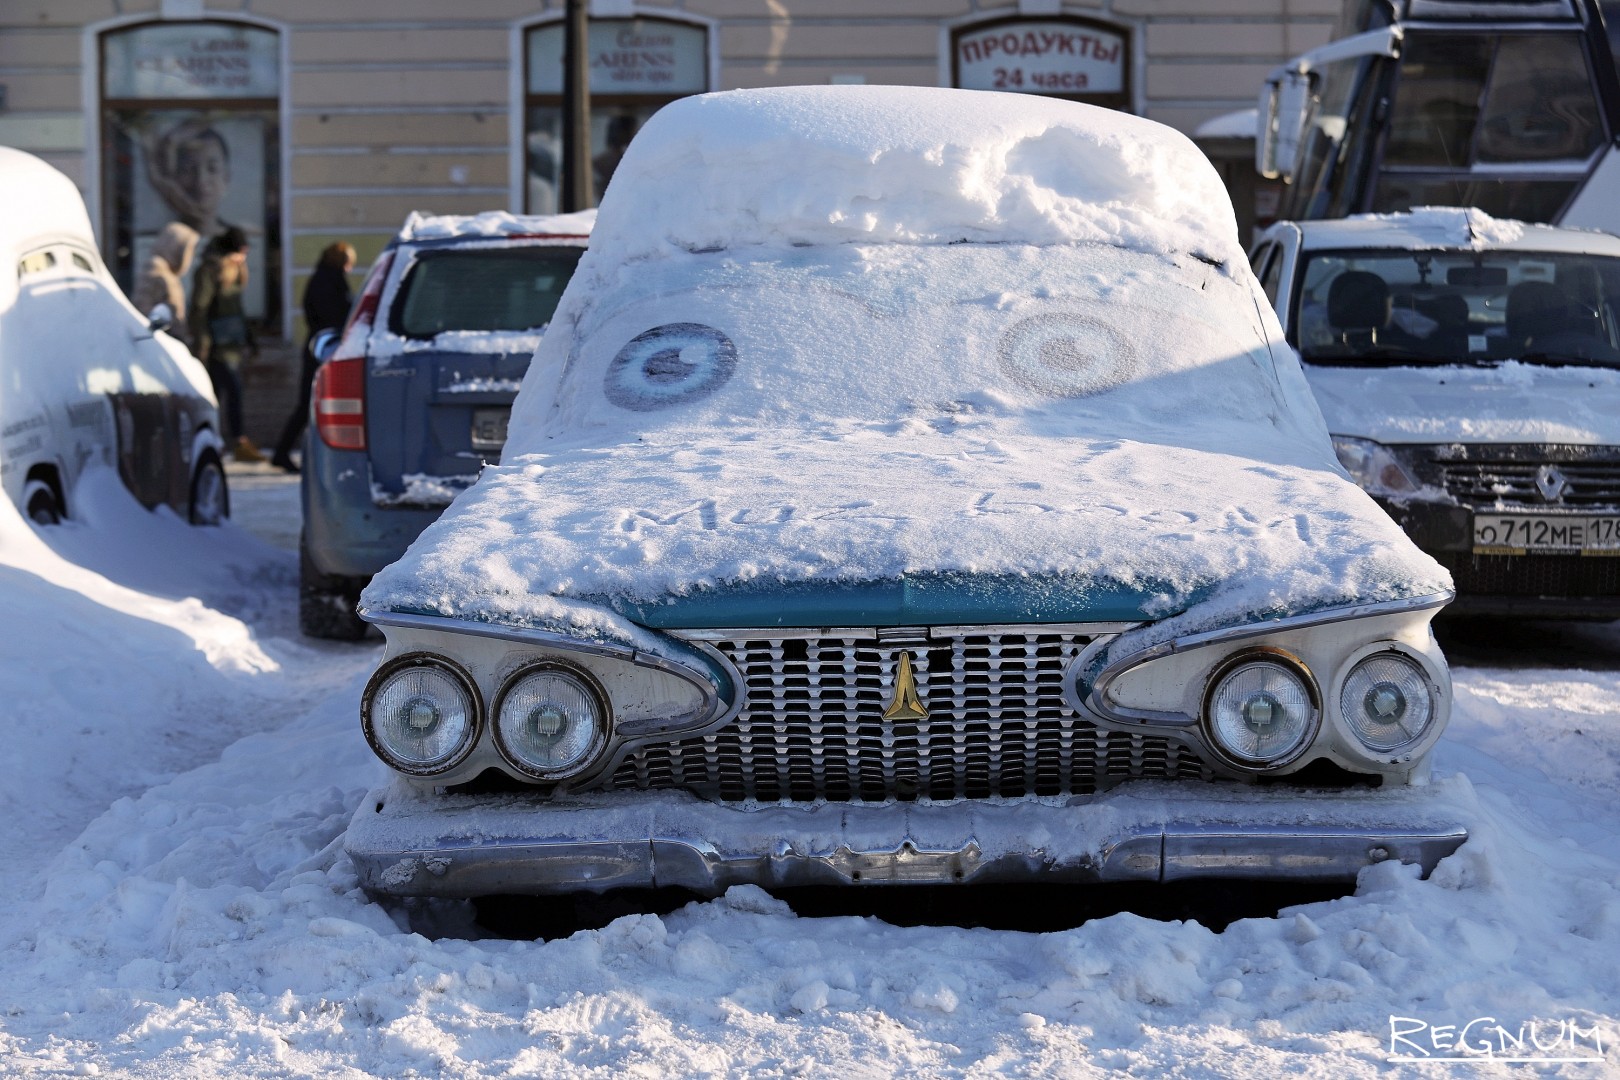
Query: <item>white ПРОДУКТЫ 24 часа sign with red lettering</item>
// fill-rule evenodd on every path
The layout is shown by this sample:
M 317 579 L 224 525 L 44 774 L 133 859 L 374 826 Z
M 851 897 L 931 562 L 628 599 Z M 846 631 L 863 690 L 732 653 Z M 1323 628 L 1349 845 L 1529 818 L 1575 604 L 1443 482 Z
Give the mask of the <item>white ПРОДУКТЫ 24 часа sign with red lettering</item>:
M 956 37 L 956 84 L 1024 94 L 1119 94 L 1126 39 L 1068 21 L 996 23 Z

